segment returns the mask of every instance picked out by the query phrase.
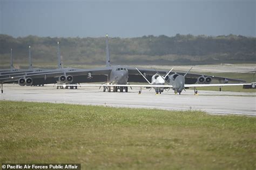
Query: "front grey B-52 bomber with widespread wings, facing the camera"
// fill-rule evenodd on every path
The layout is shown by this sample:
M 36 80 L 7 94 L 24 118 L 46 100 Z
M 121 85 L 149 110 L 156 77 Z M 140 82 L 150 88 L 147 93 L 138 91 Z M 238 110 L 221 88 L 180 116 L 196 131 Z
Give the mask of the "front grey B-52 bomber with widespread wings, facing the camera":
M 66 84 L 66 87 L 77 88 L 77 83 L 84 82 L 105 82 L 101 84 L 103 91 L 128 91 L 128 87 L 132 87 L 129 82 L 146 82 L 142 79 L 141 74 L 147 78 L 152 78 L 156 74 L 155 69 L 150 68 L 138 68 L 130 66 L 111 66 L 108 36 L 106 34 L 106 67 L 91 68 L 91 69 L 63 69 L 63 70 L 51 70 L 50 72 L 41 73 L 25 73 L 24 75 L 13 76 L 8 78 L 0 79 L 0 83 L 17 82 L 19 85 L 24 86 L 24 82 L 30 80 L 31 83 L 26 86 L 38 85 L 38 84 L 49 84 L 58 83 L 56 86 L 62 86 L 60 84 Z M 158 74 L 166 75 L 168 70 L 157 70 Z M 193 73 L 178 73 L 169 72 L 173 78 L 178 75 L 184 76 L 186 74 L 186 84 L 210 84 L 213 79 L 218 80 L 221 83 L 227 83 L 229 81 L 234 82 L 245 82 L 244 80 L 229 79 L 226 77 L 217 77 L 210 75 L 201 75 Z M 168 74 L 168 75 L 169 75 Z M 157 77 L 157 76 L 154 76 Z M 166 81 L 170 79 L 170 76 L 166 76 Z M 68 81 L 67 81 L 68 80 Z M 70 86 L 68 86 L 68 84 Z M 119 86 L 120 85 L 120 86 Z M 80 86 L 80 85 L 79 85 Z M 157 86 L 157 85 L 156 85 Z M 167 86 L 167 85 L 165 85 Z M 171 86 L 171 85 L 168 85 Z

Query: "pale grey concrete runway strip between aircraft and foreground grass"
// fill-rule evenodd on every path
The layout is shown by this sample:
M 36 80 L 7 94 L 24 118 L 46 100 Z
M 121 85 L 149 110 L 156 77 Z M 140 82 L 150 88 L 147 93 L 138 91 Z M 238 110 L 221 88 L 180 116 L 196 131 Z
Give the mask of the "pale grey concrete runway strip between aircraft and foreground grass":
M 164 91 L 155 95 L 154 90 L 129 89 L 129 93 L 107 93 L 94 87 L 79 89 L 56 89 L 56 87 L 21 87 L 4 84 L 0 100 L 71 103 L 84 105 L 104 105 L 108 107 L 150 108 L 165 110 L 201 110 L 210 114 L 234 114 L 256 116 L 256 93 L 230 91 L 186 90 L 181 95 Z

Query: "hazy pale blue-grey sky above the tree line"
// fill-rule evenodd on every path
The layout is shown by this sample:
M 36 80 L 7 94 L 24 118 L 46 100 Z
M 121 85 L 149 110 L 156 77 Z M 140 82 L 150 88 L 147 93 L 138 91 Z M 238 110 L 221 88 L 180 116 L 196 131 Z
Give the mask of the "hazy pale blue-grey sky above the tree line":
M 254 1 L 0 0 L 0 34 L 14 37 L 255 37 Z

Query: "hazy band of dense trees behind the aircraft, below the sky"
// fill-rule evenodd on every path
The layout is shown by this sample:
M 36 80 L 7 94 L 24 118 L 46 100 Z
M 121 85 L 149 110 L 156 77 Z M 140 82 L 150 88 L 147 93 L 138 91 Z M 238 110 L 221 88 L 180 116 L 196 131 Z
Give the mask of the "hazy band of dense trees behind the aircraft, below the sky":
M 109 38 L 111 60 L 114 64 L 209 64 L 255 63 L 256 38 L 235 36 L 207 37 L 177 34 L 167 36 L 143 36 L 138 38 Z M 0 34 L 2 66 L 8 66 L 10 48 L 16 63 L 28 62 L 28 46 L 31 45 L 35 62 L 57 61 L 56 47 L 60 42 L 63 62 L 67 65 L 104 65 L 105 38 L 50 38 L 18 37 Z M 34 63 L 35 63 L 34 62 Z

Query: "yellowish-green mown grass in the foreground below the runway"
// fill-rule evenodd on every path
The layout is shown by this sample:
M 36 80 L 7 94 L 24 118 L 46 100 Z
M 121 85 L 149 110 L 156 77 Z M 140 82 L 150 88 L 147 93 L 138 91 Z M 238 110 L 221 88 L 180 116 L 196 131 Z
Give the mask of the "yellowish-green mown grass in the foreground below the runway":
M 256 118 L 0 101 L 0 162 L 255 169 Z

